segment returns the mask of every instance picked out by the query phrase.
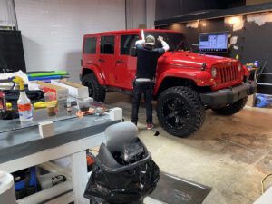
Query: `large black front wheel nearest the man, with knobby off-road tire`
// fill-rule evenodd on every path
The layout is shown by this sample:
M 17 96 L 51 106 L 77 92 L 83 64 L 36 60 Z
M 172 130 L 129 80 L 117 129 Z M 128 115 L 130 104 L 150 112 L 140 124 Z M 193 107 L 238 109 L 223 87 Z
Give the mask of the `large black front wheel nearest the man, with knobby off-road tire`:
M 176 86 L 161 92 L 157 115 L 165 131 L 183 138 L 199 130 L 205 120 L 205 109 L 198 92 Z

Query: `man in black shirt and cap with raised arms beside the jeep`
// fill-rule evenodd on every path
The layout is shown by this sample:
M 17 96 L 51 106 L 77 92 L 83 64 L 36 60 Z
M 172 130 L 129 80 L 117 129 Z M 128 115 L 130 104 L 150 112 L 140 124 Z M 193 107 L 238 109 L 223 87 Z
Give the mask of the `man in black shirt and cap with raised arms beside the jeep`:
M 146 107 L 147 129 L 151 130 L 153 128 L 151 102 L 157 63 L 160 56 L 169 50 L 169 45 L 159 36 L 158 41 L 160 41 L 162 48 L 154 48 L 155 38 L 149 35 L 144 40 L 143 32 L 141 35 L 142 40 L 136 42 L 137 71 L 133 88 L 131 121 L 137 125 L 141 93 L 143 93 Z

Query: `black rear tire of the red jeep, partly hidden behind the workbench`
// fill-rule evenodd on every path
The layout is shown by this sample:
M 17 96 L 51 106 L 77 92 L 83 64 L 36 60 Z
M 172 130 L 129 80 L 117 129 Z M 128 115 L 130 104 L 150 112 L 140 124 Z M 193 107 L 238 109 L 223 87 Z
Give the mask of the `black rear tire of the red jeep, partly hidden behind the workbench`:
M 96 102 L 104 102 L 106 91 L 97 81 L 94 73 L 88 73 L 83 76 L 83 85 L 89 88 L 89 96 Z

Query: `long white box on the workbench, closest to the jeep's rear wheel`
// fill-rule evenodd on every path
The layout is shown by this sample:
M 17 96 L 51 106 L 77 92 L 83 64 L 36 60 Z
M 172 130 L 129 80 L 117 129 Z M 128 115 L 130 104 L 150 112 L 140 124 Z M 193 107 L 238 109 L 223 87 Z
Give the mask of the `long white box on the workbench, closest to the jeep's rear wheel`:
M 74 98 L 83 99 L 89 97 L 88 87 L 83 86 L 82 84 L 71 83 L 64 80 L 51 81 L 51 83 L 68 89 L 69 95 Z

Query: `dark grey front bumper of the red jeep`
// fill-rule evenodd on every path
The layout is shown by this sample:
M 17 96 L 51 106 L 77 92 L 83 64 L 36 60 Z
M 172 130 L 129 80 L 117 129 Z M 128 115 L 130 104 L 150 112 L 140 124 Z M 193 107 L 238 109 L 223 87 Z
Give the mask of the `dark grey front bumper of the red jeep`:
M 243 83 L 232 88 L 221 89 L 217 92 L 201 93 L 200 98 L 204 105 L 211 108 L 219 108 L 237 102 L 255 92 L 257 92 L 256 83 Z

